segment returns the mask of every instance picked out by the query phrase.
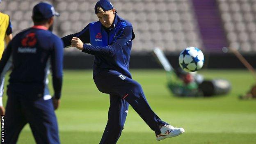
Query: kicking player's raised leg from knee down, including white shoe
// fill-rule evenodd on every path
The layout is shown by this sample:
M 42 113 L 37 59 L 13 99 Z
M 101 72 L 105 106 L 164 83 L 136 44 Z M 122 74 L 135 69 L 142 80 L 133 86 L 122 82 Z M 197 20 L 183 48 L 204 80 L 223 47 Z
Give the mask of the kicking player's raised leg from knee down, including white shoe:
M 149 127 L 155 131 L 157 140 L 175 137 L 185 132 L 183 128 L 176 128 L 162 121 L 155 112 L 153 112 L 146 100 L 141 85 L 135 80 L 127 78 L 127 80 L 123 80 L 123 85 L 116 85 L 116 87 L 117 91 L 122 94 L 123 99 L 125 99 Z

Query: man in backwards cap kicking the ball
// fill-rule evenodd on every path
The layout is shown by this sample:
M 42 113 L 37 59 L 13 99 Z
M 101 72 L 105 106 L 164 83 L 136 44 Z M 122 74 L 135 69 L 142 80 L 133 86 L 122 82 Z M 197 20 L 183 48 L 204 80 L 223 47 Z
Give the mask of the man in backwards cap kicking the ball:
M 98 1 L 94 10 L 99 21 L 89 23 L 82 31 L 63 37 L 62 40 L 65 47 L 71 45 L 94 55 L 94 82 L 99 91 L 110 94 L 108 121 L 100 144 L 117 143 L 129 104 L 155 131 L 157 140 L 184 133 L 183 128 L 170 126 L 153 112 L 142 87 L 131 78 L 128 66 L 132 40 L 135 38 L 132 25 L 116 14 L 108 0 Z

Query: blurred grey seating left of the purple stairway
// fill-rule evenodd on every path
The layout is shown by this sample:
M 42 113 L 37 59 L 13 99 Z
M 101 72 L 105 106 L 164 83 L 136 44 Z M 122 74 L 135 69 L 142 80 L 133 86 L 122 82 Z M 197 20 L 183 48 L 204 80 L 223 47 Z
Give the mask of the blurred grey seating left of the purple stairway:
M 32 25 L 31 9 L 40 1 L 2 1 L 0 10 L 11 16 L 14 34 Z M 61 14 L 54 27 L 54 32 L 60 37 L 82 30 L 91 21 L 98 21 L 94 14 L 96 0 L 48 2 L 53 3 Z M 133 24 L 135 53 L 151 51 L 154 47 L 170 53 L 187 46 L 203 48 L 190 0 L 112 0 L 112 3 L 117 14 Z

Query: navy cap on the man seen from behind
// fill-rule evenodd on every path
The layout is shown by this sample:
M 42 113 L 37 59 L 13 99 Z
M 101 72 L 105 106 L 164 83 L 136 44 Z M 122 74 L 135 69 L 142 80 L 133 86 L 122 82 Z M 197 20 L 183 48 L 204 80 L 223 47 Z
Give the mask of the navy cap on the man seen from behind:
M 33 8 L 33 16 L 42 17 L 44 19 L 51 18 L 52 16 L 59 16 L 52 5 L 46 2 L 40 2 Z

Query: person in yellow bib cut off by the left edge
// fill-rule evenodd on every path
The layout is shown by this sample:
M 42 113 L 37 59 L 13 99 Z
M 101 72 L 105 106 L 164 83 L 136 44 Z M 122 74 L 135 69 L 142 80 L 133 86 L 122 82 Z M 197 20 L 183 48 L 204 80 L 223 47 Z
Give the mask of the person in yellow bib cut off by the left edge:
M 0 0 L 0 3 L 2 0 Z M 0 59 L 2 58 L 2 53 L 5 49 L 5 43 L 8 45 L 8 43 L 12 39 L 12 26 L 11 26 L 11 19 L 7 14 L 3 14 L 0 12 Z M 8 62 L 7 65 L 11 65 L 10 62 Z M 9 66 L 7 66 L 4 71 L 8 71 Z M 3 78 L 4 75 L 0 76 L 0 114 L 5 115 L 5 107 L 3 107 L 2 104 L 2 95 L 4 93 L 4 82 L 5 79 Z

